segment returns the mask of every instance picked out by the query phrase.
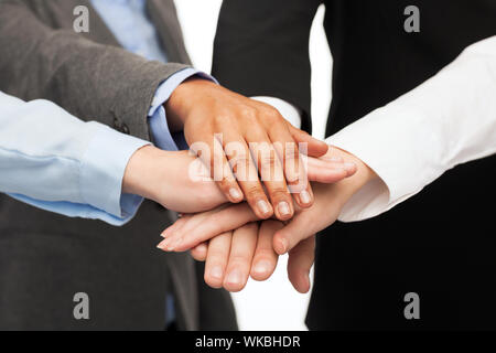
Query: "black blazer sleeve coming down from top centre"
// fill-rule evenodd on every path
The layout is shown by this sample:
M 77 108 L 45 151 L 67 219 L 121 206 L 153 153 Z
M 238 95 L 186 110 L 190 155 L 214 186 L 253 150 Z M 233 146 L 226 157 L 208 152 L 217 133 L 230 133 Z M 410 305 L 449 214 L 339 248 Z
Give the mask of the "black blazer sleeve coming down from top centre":
M 303 110 L 310 131 L 312 21 L 321 0 L 225 0 L 213 74 L 246 96 L 273 96 Z

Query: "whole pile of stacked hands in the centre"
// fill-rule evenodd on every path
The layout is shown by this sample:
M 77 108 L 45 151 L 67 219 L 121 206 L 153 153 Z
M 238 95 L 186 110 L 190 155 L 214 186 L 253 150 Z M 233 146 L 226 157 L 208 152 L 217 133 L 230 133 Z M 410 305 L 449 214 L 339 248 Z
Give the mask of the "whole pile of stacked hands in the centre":
M 250 276 L 268 279 L 288 253 L 291 282 L 308 291 L 314 234 L 375 176 L 370 169 L 293 128 L 269 105 L 207 81 L 180 85 L 165 110 L 190 151 L 144 147 L 122 183 L 126 193 L 186 214 L 163 232 L 159 247 L 191 249 L 206 261 L 206 282 L 230 291 Z

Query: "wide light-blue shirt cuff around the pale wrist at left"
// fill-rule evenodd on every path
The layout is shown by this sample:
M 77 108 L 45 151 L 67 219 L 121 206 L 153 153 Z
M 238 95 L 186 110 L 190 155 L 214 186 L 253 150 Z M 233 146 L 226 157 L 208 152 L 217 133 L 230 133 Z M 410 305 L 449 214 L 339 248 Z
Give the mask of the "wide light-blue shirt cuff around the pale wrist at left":
M 80 163 L 82 200 L 118 218 L 132 218 L 143 199 L 122 194 L 122 179 L 131 156 L 147 145 L 150 142 L 106 126 L 98 128 Z

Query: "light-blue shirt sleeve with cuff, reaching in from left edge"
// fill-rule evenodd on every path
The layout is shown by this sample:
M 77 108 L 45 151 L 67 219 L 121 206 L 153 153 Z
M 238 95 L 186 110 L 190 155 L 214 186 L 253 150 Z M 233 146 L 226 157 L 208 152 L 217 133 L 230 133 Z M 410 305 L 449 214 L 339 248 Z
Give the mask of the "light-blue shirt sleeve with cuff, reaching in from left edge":
M 84 122 L 50 101 L 24 103 L 2 93 L 0 125 L 0 192 L 112 225 L 138 211 L 142 199 L 122 194 L 122 178 L 131 156 L 150 142 Z

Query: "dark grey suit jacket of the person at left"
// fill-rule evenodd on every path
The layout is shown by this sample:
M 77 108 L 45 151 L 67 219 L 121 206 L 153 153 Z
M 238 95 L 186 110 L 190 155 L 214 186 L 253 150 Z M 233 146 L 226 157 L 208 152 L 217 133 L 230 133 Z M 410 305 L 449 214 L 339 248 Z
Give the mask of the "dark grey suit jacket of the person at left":
M 90 11 L 89 33 L 73 30 L 79 4 Z M 1 0 L 0 90 L 50 99 L 84 120 L 149 139 L 157 87 L 190 58 L 173 1 L 149 0 L 148 10 L 175 63 L 149 62 L 119 47 L 89 1 Z M 186 254 L 157 250 L 170 224 L 171 215 L 152 202 L 116 228 L 1 195 L 0 329 L 162 330 L 168 292 L 177 299 L 180 329 L 236 329 L 228 293 L 207 289 L 197 276 L 201 265 Z M 73 317 L 76 292 L 89 296 L 89 321 Z

